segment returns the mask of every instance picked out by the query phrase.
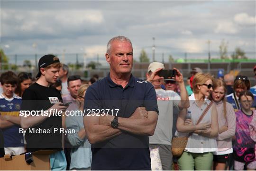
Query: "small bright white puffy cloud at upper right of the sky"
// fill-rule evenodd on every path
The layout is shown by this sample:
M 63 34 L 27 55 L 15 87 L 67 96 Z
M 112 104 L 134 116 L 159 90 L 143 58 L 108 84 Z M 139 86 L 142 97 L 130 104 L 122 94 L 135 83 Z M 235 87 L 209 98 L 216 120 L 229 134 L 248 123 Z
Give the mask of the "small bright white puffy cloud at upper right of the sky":
M 223 34 L 236 34 L 238 33 L 238 28 L 233 22 L 221 21 L 218 23 L 218 26 L 214 32 Z

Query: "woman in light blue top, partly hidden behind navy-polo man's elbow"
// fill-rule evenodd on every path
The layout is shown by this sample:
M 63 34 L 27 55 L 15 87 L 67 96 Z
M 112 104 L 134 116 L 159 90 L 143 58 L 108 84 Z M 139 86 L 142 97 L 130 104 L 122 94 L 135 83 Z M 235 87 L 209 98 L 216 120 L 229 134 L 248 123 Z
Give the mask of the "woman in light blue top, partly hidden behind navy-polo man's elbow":
M 78 89 L 76 104 L 69 106 L 69 113 L 76 112 L 74 116 L 67 116 L 66 127 L 75 130 L 68 134 L 68 140 L 73 146 L 71 149 L 70 170 L 91 170 L 91 144 L 89 143 L 83 126 L 84 95 L 89 85 L 81 85 Z

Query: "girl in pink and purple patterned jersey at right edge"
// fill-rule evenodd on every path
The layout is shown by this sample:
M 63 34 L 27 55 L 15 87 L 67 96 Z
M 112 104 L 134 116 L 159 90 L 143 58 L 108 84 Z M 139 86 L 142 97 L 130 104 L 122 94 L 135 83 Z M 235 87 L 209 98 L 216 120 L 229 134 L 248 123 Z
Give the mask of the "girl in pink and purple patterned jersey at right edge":
M 239 95 L 241 110 L 236 112 L 236 137 L 234 139 L 235 170 L 254 171 L 256 169 L 255 142 L 251 138 L 249 125 L 253 120 L 251 110 L 254 96 L 250 91 Z

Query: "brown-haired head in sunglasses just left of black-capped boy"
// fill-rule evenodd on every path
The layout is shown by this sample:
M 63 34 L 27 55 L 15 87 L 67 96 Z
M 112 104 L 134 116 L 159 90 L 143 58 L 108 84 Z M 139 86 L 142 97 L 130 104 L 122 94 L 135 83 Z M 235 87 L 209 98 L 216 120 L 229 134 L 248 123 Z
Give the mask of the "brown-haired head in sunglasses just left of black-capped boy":
M 15 90 L 15 94 L 19 97 L 22 96 L 23 92 L 32 84 L 32 77 L 30 73 L 21 72 L 18 74 L 18 85 Z

